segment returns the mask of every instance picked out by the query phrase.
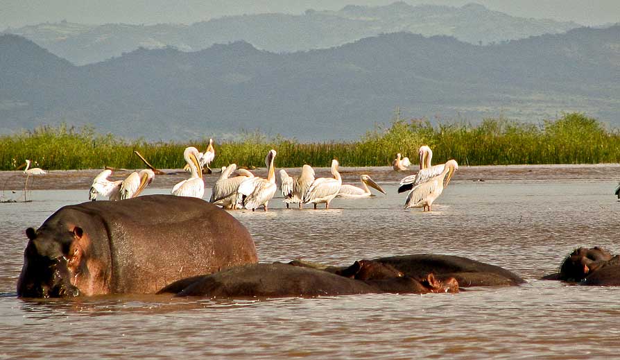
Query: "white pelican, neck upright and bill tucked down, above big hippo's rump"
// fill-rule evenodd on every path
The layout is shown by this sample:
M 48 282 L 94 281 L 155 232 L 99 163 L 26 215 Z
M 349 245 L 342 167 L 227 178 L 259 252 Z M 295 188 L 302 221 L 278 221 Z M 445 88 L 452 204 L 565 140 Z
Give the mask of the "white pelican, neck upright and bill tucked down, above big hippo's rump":
M 275 150 L 271 149 L 265 157 L 267 165 L 267 178 L 249 178 L 241 182 L 237 192 L 241 195 L 241 203 L 246 209 L 254 211 L 263 205 L 267 211 L 269 200 L 275 195 L 277 186 L 275 185 L 275 169 L 273 167 L 273 159 L 275 158 Z

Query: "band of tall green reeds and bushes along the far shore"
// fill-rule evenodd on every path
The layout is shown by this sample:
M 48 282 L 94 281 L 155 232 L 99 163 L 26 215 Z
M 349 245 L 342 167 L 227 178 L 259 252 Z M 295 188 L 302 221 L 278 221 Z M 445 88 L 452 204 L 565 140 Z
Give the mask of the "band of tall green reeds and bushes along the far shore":
M 19 135 L 0 137 L 0 169 L 15 170 L 28 158 L 44 169 L 101 169 L 112 166 L 141 169 L 134 155 L 139 151 L 159 169 L 184 166 L 183 149 L 207 148 L 208 139 L 180 144 L 148 143 L 114 135 L 97 134 L 93 128 L 45 126 Z M 232 162 L 239 166 L 264 166 L 270 148 L 277 151 L 278 167 L 303 164 L 329 166 L 336 158 L 342 166 L 386 166 L 396 153 L 417 161 L 417 148 L 433 149 L 433 162 L 454 158 L 459 164 L 596 164 L 620 162 L 620 132 L 605 129 L 584 114 L 564 114 L 540 126 L 506 119 L 485 119 L 479 125 L 395 120 L 389 128 L 376 128 L 356 142 L 301 144 L 294 140 L 268 139 L 259 133 L 240 141 L 215 143 L 212 167 Z

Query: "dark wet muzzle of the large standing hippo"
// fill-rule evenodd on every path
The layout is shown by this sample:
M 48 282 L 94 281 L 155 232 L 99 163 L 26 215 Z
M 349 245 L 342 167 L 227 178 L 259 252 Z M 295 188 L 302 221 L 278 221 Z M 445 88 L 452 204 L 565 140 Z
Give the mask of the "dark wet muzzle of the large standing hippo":
M 17 286 L 17 295 L 21 298 L 68 298 L 80 295 L 80 290 L 71 284 L 67 258 L 36 261 L 37 279 L 22 281 Z M 33 268 L 33 270 L 35 270 Z

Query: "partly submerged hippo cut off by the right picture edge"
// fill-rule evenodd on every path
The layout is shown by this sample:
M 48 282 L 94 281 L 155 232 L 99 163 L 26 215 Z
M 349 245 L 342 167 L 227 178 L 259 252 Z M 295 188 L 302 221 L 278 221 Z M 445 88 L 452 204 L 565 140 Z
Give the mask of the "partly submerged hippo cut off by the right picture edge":
M 620 285 L 620 256 L 608 250 L 576 248 L 560 265 L 560 271 L 545 275 L 542 280 L 562 280 L 583 285 Z

